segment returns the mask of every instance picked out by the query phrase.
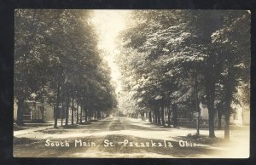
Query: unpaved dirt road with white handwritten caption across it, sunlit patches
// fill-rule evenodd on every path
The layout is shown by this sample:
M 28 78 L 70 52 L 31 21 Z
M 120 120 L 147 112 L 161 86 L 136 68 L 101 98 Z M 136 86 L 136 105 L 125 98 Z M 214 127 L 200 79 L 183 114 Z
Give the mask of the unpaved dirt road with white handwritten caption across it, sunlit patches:
M 18 132 L 18 131 L 17 131 Z M 221 138 L 188 138 L 189 128 L 161 128 L 109 117 L 71 128 L 45 128 L 14 137 L 15 157 L 219 157 L 229 151 Z M 223 131 L 216 131 L 218 136 Z

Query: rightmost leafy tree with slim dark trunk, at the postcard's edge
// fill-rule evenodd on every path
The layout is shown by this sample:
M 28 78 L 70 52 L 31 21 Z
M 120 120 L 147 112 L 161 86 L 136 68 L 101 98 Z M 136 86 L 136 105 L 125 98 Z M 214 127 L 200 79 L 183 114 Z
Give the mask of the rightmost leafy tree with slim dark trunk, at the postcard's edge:
M 230 139 L 230 109 L 232 102 L 237 102 L 237 89 L 243 86 L 246 90 L 242 100 L 249 100 L 250 13 L 230 11 L 224 14 L 223 26 L 212 34 L 212 43 L 218 55 L 218 81 L 224 93 L 224 137 Z M 238 100 L 238 104 L 241 102 Z

